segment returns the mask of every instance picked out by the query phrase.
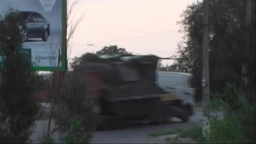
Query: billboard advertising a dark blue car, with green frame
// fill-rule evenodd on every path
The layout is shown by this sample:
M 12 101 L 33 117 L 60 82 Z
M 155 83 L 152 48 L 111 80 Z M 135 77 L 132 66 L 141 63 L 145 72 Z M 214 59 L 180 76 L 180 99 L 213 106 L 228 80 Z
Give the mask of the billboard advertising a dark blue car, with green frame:
M 23 15 L 22 45 L 30 49 L 36 71 L 66 71 L 66 5 L 66 0 L 0 0 L 0 14 L 12 8 Z

